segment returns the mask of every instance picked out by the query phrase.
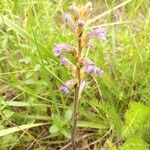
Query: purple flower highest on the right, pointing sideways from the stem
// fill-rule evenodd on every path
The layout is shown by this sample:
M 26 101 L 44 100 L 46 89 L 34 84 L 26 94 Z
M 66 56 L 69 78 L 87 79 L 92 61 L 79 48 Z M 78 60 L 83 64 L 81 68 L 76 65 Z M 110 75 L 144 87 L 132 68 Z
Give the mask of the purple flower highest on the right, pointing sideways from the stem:
M 89 38 L 95 38 L 98 37 L 99 39 L 106 41 L 106 29 L 105 28 L 98 28 L 95 29 L 94 31 L 92 31 L 91 33 L 89 33 Z

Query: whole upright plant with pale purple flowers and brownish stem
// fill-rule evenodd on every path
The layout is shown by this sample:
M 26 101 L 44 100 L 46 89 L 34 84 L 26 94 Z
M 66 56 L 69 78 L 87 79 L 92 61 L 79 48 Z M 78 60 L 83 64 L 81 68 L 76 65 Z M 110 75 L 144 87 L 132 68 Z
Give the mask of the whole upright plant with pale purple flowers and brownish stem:
M 66 66 L 73 73 L 73 79 L 68 80 L 60 87 L 60 90 L 65 94 L 69 93 L 71 88 L 75 89 L 71 134 L 73 150 L 76 149 L 77 107 L 79 96 L 87 83 L 85 81 L 85 77 L 87 75 L 102 76 L 103 74 L 103 70 L 101 68 L 96 67 L 89 58 L 85 57 L 86 48 L 89 46 L 89 43 L 93 38 L 97 37 L 100 40 L 106 40 L 106 29 L 104 28 L 97 28 L 89 33 L 86 33 L 85 31 L 86 21 L 90 17 L 92 9 L 93 7 L 91 2 L 80 7 L 73 4 L 71 6 L 72 15 L 64 14 L 64 21 L 75 35 L 77 47 L 66 43 L 55 44 L 54 46 L 54 55 L 59 57 L 61 64 Z M 63 53 L 65 52 L 73 55 L 75 64 L 63 56 Z

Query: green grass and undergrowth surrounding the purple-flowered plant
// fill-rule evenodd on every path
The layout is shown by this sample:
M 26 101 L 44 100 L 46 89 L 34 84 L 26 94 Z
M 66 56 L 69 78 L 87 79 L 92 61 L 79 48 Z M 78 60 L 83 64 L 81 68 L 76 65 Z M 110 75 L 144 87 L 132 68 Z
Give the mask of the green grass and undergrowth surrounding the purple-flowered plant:
M 62 19 L 72 2 L 0 2 L 1 150 L 60 149 L 67 144 L 71 149 L 73 93 L 59 91 L 71 75 L 59 65 L 53 47 L 74 44 Z M 149 147 L 150 112 L 145 111 L 150 108 L 149 5 L 149 0 L 94 1 L 89 26 L 105 26 L 108 32 L 107 42 L 94 40 L 87 53 L 104 75 L 89 79 L 80 99 L 78 140 L 83 149 Z M 134 146 L 137 141 L 139 147 Z

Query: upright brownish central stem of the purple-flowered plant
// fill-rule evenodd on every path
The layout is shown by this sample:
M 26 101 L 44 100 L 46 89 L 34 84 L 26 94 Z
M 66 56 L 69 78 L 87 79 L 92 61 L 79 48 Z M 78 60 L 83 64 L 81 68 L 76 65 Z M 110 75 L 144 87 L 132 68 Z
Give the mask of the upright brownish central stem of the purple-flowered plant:
M 78 39 L 78 56 L 76 59 L 76 79 L 78 80 L 78 84 L 75 86 L 75 95 L 74 95 L 74 103 L 73 103 L 73 117 L 72 117 L 72 133 L 71 133 L 71 142 L 72 149 L 76 150 L 76 132 L 77 132 L 77 110 L 78 110 L 78 102 L 79 102 L 79 90 L 80 90 L 80 57 L 81 57 L 81 37 L 82 33 L 79 35 Z

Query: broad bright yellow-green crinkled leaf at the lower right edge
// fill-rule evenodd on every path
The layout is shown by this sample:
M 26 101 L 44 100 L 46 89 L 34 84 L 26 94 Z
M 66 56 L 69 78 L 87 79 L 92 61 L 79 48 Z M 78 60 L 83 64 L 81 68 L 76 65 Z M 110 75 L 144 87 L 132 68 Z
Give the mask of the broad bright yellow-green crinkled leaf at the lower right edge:
M 142 103 L 133 102 L 125 113 L 125 125 L 122 130 L 123 137 L 134 134 L 142 135 L 145 125 L 150 121 L 150 109 Z

